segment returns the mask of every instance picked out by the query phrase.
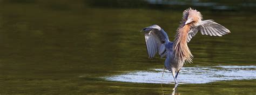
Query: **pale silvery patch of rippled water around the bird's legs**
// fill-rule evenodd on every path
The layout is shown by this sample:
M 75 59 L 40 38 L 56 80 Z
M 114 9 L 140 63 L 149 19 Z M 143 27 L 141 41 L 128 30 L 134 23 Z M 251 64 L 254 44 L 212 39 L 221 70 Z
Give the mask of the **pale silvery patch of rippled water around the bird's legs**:
M 161 78 L 162 73 L 163 69 L 150 69 L 103 78 L 118 82 L 173 84 L 171 73 L 166 70 Z M 177 79 L 180 84 L 203 84 L 221 80 L 256 79 L 255 73 L 256 66 L 183 67 Z

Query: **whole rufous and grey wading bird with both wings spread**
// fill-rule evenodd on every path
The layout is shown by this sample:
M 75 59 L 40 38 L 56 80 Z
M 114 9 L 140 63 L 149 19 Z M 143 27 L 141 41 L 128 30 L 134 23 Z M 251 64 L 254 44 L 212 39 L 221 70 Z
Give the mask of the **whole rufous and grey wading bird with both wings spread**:
M 171 71 L 175 82 L 175 88 L 178 86 L 177 76 L 185 62 L 192 63 L 193 55 L 187 46 L 191 38 L 198 31 L 202 35 L 223 36 L 230 33 L 230 30 L 224 26 L 213 22 L 213 20 L 202 21 L 203 17 L 197 10 L 188 8 L 183 12 L 183 18 L 173 42 L 170 42 L 166 32 L 158 25 L 152 25 L 144 28 L 147 54 L 152 59 L 158 52 L 160 57 L 165 57 L 165 68 Z

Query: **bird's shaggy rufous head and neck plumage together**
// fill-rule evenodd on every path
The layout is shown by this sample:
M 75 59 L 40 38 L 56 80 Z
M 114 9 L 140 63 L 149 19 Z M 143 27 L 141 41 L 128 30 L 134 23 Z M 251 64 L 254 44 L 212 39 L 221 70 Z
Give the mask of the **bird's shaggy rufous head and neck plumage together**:
M 201 13 L 191 8 L 183 12 L 183 19 L 174 39 L 173 53 L 176 59 L 192 63 L 193 55 L 187 46 L 187 35 L 191 27 L 196 26 L 202 19 Z

